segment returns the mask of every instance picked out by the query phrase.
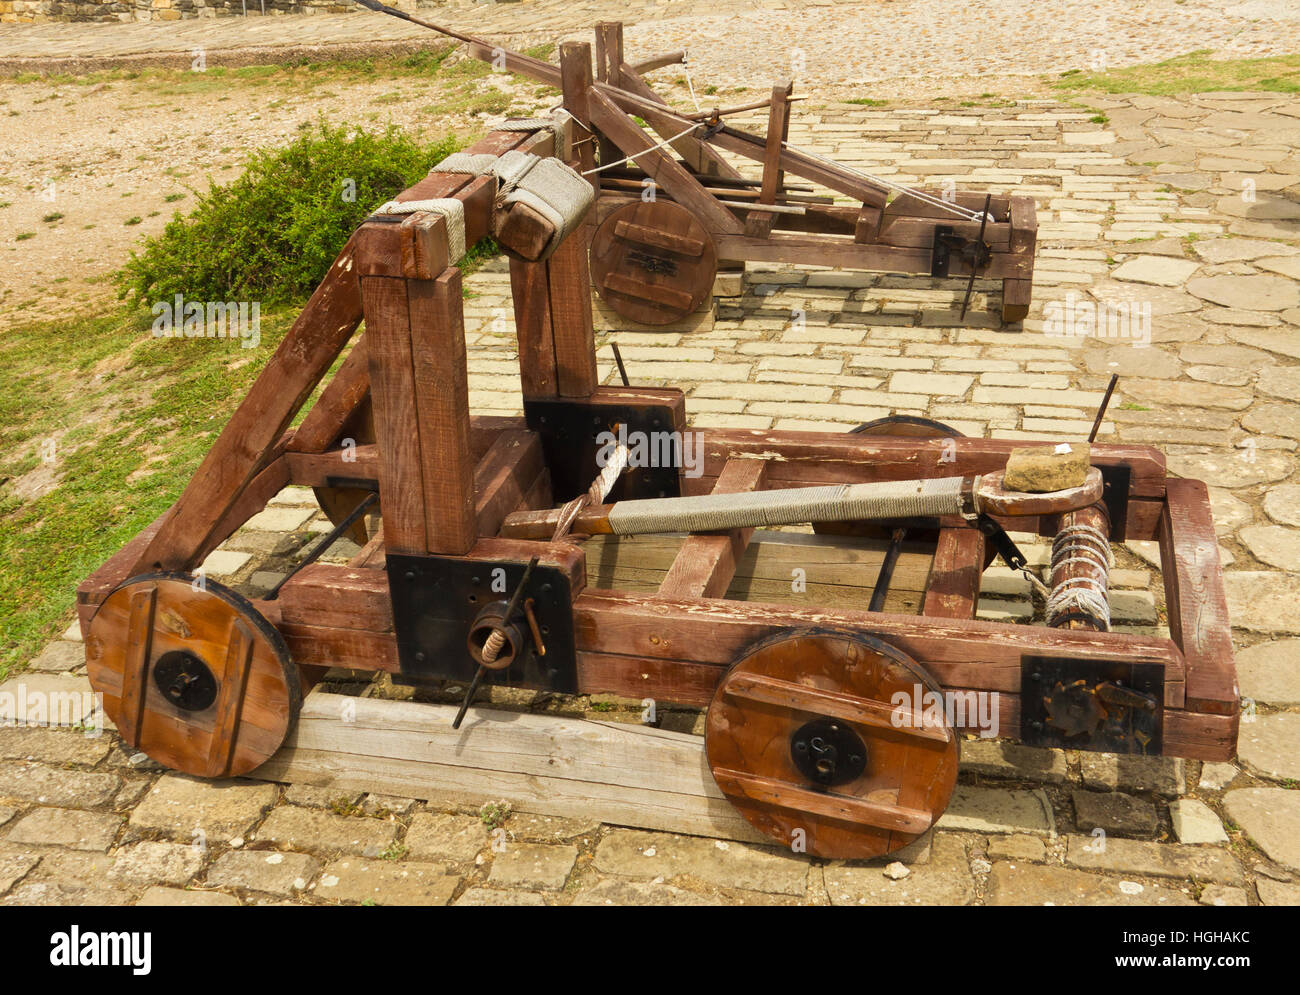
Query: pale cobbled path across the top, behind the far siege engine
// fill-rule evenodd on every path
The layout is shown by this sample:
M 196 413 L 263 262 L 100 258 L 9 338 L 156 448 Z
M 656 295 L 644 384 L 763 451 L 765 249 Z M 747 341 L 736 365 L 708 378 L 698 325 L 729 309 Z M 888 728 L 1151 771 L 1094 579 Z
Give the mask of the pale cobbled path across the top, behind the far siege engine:
M 254 7 L 250 4 L 250 7 Z M 1034 75 L 1154 62 L 1191 51 L 1253 57 L 1300 51 L 1300 9 L 1290 0 L 454 0 L 421 16 L 488 38 L 590 36 L 598 20 L 628 23 L 633 56 L 685 48 L 702 78 L 768 85 L 793 74 L 809 85 L 927 77 Z M 429 33 L 368 12 L 311 17 L 225 17 L 150 23 L 34 23 L 0 27 L 0 69 L 22 60 L 122 57 L 187 65 L 192 51 L 428 42 Z M 744 38 L 745 44 L 734 44 Z M 256 53 L 231 56 L 235 61 Z M 221 60 L 212 57 L 213 64 Z M 31 64 L 32 68 L 36 62 Z

